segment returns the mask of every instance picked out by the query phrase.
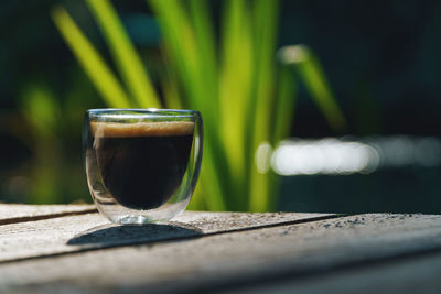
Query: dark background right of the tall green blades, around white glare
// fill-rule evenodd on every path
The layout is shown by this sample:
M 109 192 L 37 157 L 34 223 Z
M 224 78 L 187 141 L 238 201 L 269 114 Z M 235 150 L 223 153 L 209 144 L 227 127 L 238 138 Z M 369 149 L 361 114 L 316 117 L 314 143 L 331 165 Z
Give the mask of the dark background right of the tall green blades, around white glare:
M 441 2 L 286 1 L 281 23 L 281 44 L 318 54 L 349 120 L 345 134 L 440 137 Z M 335 135 L 304 91 L 299 100 L 293 135 Z M 412 165 L 283 177 L 280 209 L 439 214 L 440 179 L 440 166 Z

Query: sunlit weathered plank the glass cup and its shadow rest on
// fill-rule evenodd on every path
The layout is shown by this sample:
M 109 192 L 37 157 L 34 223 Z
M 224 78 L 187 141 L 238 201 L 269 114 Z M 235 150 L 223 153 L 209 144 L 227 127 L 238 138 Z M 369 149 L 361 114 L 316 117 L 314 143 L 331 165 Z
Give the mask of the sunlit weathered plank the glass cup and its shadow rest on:
M 121 227 L 98 214 L 0 226 L 0 263 L 66 252 L 197 237 L 226 230 L 291 224 L 325 214 L 184 213 L 171 225 Z

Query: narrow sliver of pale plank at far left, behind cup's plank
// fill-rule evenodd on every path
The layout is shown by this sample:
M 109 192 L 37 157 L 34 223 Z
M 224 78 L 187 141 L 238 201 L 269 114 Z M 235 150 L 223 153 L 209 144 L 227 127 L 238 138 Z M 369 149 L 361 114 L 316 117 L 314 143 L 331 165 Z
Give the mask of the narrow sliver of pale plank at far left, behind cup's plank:
M 0 225 L 96 211 L 94 205 L 0 204 Z

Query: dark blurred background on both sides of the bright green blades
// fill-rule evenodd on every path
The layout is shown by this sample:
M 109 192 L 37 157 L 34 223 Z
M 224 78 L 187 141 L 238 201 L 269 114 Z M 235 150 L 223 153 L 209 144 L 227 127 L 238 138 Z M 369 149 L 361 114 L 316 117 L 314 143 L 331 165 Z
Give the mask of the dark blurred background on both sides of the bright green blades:
M 85 109 L 104 105 L 50 19 L 50 9 L 58 2 L 0 2 L 4 202 L 89 200 L 80 166 L 82 117 Z M 84 3 L 63 3 L 100 44 Z M 160 39 L 154 20 L 137 18 L 149 13 L 144 1 L 114 3 L 140 50 L 154 56 Z M 213 7 L 217 15 L 219 2 Z M 280 46 L 308 44 L 315 52 L 348 120 L 344 132 L 332 132 L 300 85 L 292 137 L 441 135 L 440 1 L 282 1 L 279 32 Z M 25 89 L 33 85 L 44 85 L 55 97 L 52 119 L 60 123 L 43 137 L 26 115 Z M 280 209 L 441 213 L 440 172 L 440 166 L 404 166 L 369 175 L 283 177 Z M 49 179 L 43 176 L 41 184 L 45 173 Z

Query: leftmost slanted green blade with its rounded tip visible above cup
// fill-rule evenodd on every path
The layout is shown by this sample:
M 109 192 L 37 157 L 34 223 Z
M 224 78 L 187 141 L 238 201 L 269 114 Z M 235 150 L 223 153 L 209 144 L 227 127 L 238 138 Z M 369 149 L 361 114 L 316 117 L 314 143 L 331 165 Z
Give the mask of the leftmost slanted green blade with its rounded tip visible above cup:
M 56 7 L 52 10 L 52 19 L 106 104 L 116 108 L 130 107 L 130 100 L 118 79 L 67 11 Z

